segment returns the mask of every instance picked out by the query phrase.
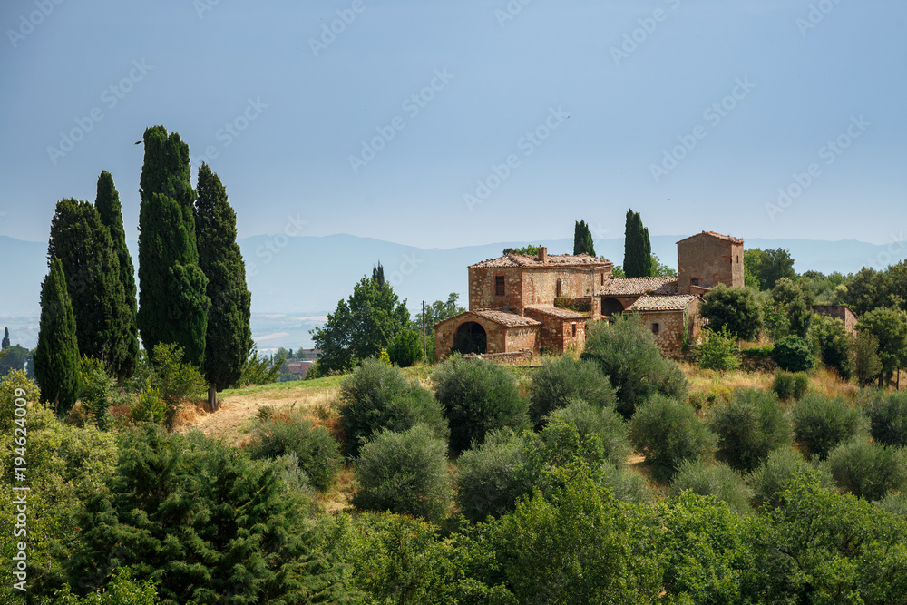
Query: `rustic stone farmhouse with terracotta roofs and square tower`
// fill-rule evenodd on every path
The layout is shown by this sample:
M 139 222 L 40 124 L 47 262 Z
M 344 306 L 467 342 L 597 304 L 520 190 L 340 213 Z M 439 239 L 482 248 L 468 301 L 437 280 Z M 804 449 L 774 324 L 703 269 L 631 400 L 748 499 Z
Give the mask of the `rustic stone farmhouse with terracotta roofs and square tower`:
M 743 239 L 703 231 L 678 241 L 678 275 L 614 278 L 613 263 L 584 254 L 508 254 L 469 270 L 469 310 L 434 326 L 439 359 L 452 352 L 531 358 L 580 346 L 586 322 L 638 313 L 662 354 L 678 357 L 696 338 L 701 296 L 743 286 Z

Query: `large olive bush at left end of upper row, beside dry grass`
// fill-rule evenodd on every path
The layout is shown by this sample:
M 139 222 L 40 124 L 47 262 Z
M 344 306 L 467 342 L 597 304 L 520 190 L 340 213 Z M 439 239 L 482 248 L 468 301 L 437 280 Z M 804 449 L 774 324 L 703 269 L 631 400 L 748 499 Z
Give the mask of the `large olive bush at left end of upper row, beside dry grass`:
M 356 457 L 362 443 L 384 429 L 403 432 L 424 424 L 446 439 L 449 432 L 442 406 L 431 391 L 410 380 L 399 367 L 366 359 L 340 383 L 340 425 L 344 451 Z

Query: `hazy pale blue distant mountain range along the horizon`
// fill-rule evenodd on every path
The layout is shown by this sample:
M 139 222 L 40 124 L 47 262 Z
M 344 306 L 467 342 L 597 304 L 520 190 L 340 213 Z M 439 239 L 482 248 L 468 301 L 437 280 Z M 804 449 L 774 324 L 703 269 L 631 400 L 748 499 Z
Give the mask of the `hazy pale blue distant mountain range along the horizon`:
M 677 265 L 677 236 L 655 236 L 652 251 L 669 267 Z M 422 301 L 461 295 L 465 306 L 466 267 L 501 256 L 502 249 L 526 243 L 547 246 L 550 254 L 572 252 L 572 239 L 500 242 L 454 249 L 420 249 L 352 235 L 288 238 L 254 236 L 240 239 L 252 292 L 252 330 L 259 348 L 311 346 L 308 330 L 322 324 L 337 301 L 356 282 L 371 275 L 379 261 L 385 278 L 413 313 Z M 790 250 L 798 272 L 852 273 L 863 267 L 884 268 L 907 259 L 907 241 L 877 246 L 853 239 L 747 239 L 746 248 Z M 133 262 L 136 242 L 130 242 Z M 10 325 L 14 343 L 34 346 L 40 313 L 41 281 L 47 271 L 46 244 L 0 236 L 0 323 Z M 623 239 L 599 239 L 595 251 L 615 264 L 623 261 Z M 15 318 L 15 320 L 14 320 Z

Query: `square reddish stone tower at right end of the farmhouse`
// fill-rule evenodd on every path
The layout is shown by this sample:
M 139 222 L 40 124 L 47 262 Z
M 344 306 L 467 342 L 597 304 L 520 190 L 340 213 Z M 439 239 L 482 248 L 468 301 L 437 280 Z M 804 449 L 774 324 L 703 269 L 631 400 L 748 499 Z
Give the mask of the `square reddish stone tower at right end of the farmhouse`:
M 690 294 L 693 279 L 698 286 L 718 284 L 743 286 L 743 244 L 706 234 L 678 241 L 678 288 Z

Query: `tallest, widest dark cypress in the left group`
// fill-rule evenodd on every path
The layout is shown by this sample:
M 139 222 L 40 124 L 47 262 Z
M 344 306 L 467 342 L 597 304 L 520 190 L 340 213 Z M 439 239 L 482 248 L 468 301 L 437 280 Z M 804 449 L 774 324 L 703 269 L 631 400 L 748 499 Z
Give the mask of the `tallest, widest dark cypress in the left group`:
M 139 212 L 139 314 L 141 342 L 182 347 L 184 361 L 200 366 L 211 301 L 195 239 L 189 145 L 163 126 L 145 131 Z M 153 359 L 152 359 L 153 361 Z

